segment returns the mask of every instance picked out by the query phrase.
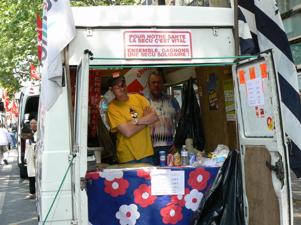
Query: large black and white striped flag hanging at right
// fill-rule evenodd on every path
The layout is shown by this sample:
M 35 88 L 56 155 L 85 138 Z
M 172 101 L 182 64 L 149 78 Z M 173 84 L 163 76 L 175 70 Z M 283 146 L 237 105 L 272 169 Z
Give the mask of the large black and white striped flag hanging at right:
M 297 81 L 297 72 L 294 65 L 290 45 L 283 27 L 275 0 L 239 0 L 239 24 L 247 23 L 254 46 L 250 45 L 250 36 L 242 35 L 240 38 L 241 54 L 253 48 L 256 52 L 273 49 L 278 70 L 281 92 L 281 108 L 283 111 L 284 130 L 291 138 L 288 146 L 290 168 L 301 177 L 301 106 Z M 244 25 L 244 29 L 246 26 Z M 241 29 L 240 29 L 241 30 Z M 252 44 L 251 44 L 252 45 Z M 247 46 L 247 47 L 246 47 Z

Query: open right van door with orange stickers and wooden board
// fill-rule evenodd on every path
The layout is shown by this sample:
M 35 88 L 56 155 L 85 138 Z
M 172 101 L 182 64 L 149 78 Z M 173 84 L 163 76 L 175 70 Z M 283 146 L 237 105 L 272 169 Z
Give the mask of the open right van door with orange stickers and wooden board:
M 292 224 L 290 171 L 272 50 L 232 67 L 246 224 Z

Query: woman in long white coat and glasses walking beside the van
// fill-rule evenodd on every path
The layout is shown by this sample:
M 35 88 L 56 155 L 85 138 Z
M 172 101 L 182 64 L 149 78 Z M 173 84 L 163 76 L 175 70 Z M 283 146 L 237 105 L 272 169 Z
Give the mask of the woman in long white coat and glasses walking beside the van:
M 35 159 L 34 159 L 34 148 L 37 140 L 37 119 L 32 119 L 29 122 L 31 133 L 33 134 L 33 139 L 26 140 L 25 147 L 25 155 L 24 162 L 27 163 L 27 174 L 29 177 L 29 195 L 27 195 L 24 199 L 36 198 L 36 167 L 35 167 Z

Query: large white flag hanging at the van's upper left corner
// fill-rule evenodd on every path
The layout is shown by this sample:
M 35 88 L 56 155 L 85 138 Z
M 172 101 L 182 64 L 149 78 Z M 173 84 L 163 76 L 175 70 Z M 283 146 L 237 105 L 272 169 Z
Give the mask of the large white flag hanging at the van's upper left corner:
M 44 0 L 42 22 L 41 102 L 48 111 L 62 92 L 61 51 L 76 35 L 70 1 Z

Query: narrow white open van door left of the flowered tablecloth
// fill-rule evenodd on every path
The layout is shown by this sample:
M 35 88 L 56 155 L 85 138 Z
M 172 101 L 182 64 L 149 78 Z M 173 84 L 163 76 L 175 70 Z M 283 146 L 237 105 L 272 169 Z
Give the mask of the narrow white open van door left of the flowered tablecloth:
M 71 166 L 72 211 L 75 224 L 88 224 L 88 198 L 85 186 L 87 172 L 88 87 L 89 54 L 83 54 L 77 67 L 73 146 L 73 153 L 76 152 L 76 157 Z

